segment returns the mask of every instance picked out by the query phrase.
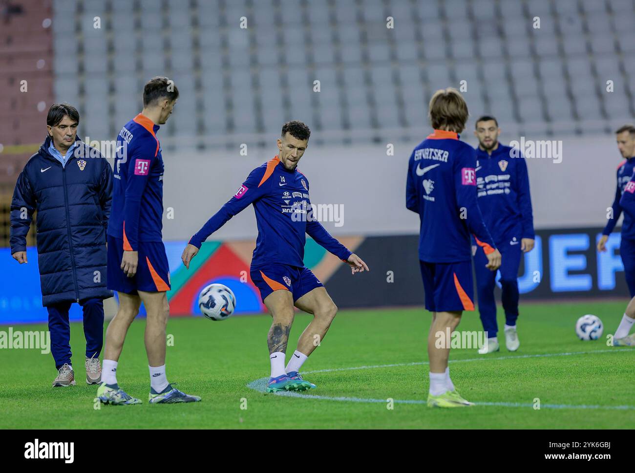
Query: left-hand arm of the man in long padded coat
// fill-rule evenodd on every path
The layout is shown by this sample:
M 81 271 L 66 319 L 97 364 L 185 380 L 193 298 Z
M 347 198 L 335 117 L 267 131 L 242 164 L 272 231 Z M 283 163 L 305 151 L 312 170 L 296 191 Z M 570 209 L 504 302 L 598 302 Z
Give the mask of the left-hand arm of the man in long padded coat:
M 18 263 L 27 263 L 27 234 L 36 210 L 36 198 L 29 177 L 22 170 L 15 183 L 13 199 L 11 200 L 11 230 L 9 243 L 11 256 Z

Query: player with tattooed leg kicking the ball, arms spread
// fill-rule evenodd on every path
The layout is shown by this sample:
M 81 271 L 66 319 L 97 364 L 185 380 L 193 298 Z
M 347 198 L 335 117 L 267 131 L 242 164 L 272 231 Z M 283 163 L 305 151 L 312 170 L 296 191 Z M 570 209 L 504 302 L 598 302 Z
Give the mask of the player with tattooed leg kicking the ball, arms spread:
M 234 197 L 192 236 L 182 255 L 184 265 L 189 268 L 203 241 L 253 204 L 258 238 L 251 259 L 251 281 L 260 290 L 262 301 L 273 317 L 267 335 L 271 361 L 269 392 L 315 387 L 302 379 L 300 367 L 323 340 L 337 314 L 337 307 L 323 284 L 304 266 L 305 234 L 347 262 L 353 274 L 368 271 L 366 263 L 312 218 L 309 180 L 297 169 L 310 135 L 311 130 L 301 121 L 285 123 L 277 140 L 277 156 L 251 171 Z M 294 305 L 313 314 L 313 320 L 300 335 L 297 350 L 285 368 Z

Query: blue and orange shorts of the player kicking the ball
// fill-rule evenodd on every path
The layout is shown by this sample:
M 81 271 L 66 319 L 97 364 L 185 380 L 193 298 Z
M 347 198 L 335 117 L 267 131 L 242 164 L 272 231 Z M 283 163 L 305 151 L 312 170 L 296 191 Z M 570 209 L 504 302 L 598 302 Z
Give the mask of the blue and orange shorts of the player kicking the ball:
M 307 267 L 279 263 L 251 266 L 251 281 L 260 291 L 263 302 L 273 291 L 286 290 L 293 295 L 293 302 L 324 284 Z

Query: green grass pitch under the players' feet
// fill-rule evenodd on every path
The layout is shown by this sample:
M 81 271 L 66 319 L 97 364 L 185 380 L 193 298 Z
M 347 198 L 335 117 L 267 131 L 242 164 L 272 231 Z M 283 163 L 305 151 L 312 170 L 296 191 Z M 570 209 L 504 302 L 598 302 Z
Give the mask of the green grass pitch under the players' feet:
M 50 354 L 0 350 L 0 427 L 631 428 L 635 423 L 631 382 L 635 378 L 635 350 L 607 347 L 605 336 L 582 342 L 574 332 L 578 317 L 596 314 L 605 324 L 604 335 L 612 333 L 626 302 L 521 306 L 518 352 L 507 352 L 502 333 L 497 354 L 452 350 L 453 382 L 462 396 L 477 403 L 454 410 L 430 409 L 422 404 L 428 389 L 425 347 L 431 319 L 423 309 L 342 310 L 338 314 L 321 346 L 303 367 L 305 378 L 318 385 L 307 394 L 338 400 L 265 394 L 247 386 L 269 374 L 269 316 L 232 317 L 222 323 L 175 317 L 168 323 L 168 334 L 174 337 L 174 345 L 167 348 L 168 379 L 179 389 L 203 397 L 203 402 L 147 403 L 145 321 L 138 319 L 128 332 L 117 379 L 144 403 L 97 409 L 93 402 L 97 389 L 84 382 L 83 329 L 74 323 L 71 339 L 77 386 L 51 388 L 55 367 Z M 308 322 L 306 314 L 297 315 L 288 354 Z M 498 323 L 502 328 L 500 309 Z M 0 330 L 7 327 L 0 326 Z M 14 326 L 14 330 L 46 330 L 46 326 Z M 466 312 L 458 330 L 481 330 L 478 312 Z M 378 366 L 388 364 L 396 366 Z M 373 367 L 309 373 L 361 366 Z M 389 398 L 394 399 L 392 409 Z M 533 407 L 535 398 L 540 399 L 540 410 Z M 398 402 L 404 400 L 416 402 Z

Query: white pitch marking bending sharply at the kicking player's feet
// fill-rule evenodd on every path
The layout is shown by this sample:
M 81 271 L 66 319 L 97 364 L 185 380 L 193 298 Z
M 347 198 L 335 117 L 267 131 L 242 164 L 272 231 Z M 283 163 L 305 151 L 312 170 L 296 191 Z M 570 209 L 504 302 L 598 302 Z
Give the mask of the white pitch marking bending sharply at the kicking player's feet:
M 608 353 L 608 352 L 631 352 L 632 349 L 611 349 L 611 350 L 591 350 L 586 352 L 564 352 L 564 353 L 544 353 L 535 355 L 519 355 L 519 356 L 500 356 L 500 357 L 479 357 L 479 358 L 466 358 L 462 360 L 450 360 L 450 363 L 460 363 L 462 361 L 491 361 L 500 359 L 514 359 L 514 358 L 538 358 L 538 357 L 551 357 L 551 356 L 571 356 L 571 355 L 587 355 L 593 353 Z M 330 373 L 331 371 L 350 371 L 350 370 L 370 370 L 373 368 L 394 368 L 396 366 L 420 366 L 429 364 L 427 361 L 415 361 L 413 363 L 393 363 L 393 364 L 375 364 L 369 366 L 354 366 L 351 368 L 331 368 L 327 370 L 314 370 L 304 371 L 308 373 Z M 258 378 L 248 383 L 247 387 L 259 392 L 267 392 L 268 377 Z M 287 397 L 302 397 L 304 399 L 322 399 L 324 401 L 344 401 L 349 403 L 382 403 L 388 402 L 387 399 L 372 399 L 366 397 L 347 397 L 347 396 L 319 396 L 318 394 L 300 394 L 295 391 L 278 391 L 274 392 L 277 396 Z M 396 404 L 425 404 L 427 401 L 423 399 L 393 399 L 393 403 Z M 518 408 L 533 408 L 532 403 L 474 403 L 476 406 L 499 406 L 499 407 L 518 407 Z M 606 409 L 606 410 L 635 410 L 635 406 L 598 406 L 588 404 L 540 404 L 540 408 L 543 409 Z

